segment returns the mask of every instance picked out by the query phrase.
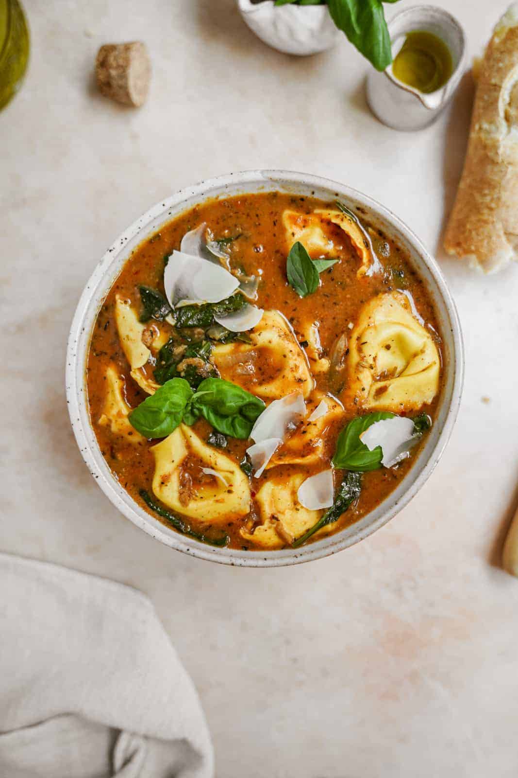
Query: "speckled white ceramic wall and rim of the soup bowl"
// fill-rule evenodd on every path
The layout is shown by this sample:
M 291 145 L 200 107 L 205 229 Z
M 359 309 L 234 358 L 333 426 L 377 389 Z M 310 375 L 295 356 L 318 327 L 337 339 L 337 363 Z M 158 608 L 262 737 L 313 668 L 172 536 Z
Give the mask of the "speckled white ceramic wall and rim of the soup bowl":
M 113 478 L 110 468 L 99 450 L 89 419 L 85 387 L 85 367 L 90 335 L 99 308 L 130 252 L 162 224 L 169 222 L 186 209 L 207 198 L 229 197 L 252 192 L 285 191 L 297 195 L 314 195 L 325 200 L 339 198 L 349 208 L 360 206 L 367 219 L 381 227 L 385 233 L 405 247 L 412 264 L 425 279 L 436 305 L 443 333 L 445 381 L 439 412 L 424 447 L 419 452 L 411 471 L 398 488 L 381 505 L 351 527 L 302 548 L 286 548 L 282 551 L 245 552 L 234 548 L 214 548 L 179 534 L 165 527 L 137 505 L 122 486 Z M 461 400 L 464 375 L 464 352 L 461 328 L 454 301 L 436 261 L 428 254 L 418 238 L 408 230 L 397 216 L 367 195 L 334 181 L 290 173 L 285 170 L 256 170 L 234 173 L 203 181 L 183 189 L 176 195 L 159 202 L 132 224 L 106 251 L 91 279 L 85 286 L 72 322 L 68 340 L 66 389 L 71 424 L 82 456 L 93 477 L 121 513 L 137 527 L 165 545 L 200 559 L 210 559 L 228 565 L 249 567 L 276 567 L 308 562 L 334 554 L 357 543 L 388 522 L 405 506 L 426 482 L 440 459 L 450 437 Z

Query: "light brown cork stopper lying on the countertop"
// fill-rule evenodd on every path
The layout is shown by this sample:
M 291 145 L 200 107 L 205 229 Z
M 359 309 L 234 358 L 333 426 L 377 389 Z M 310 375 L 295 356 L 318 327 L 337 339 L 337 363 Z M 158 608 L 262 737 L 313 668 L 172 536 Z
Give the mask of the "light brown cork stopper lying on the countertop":
M 148 48 L 140 40 L 101 46 L 96 58 L 96 79 L 103 95 L 140 107 L 148 96 L 151 79 Z

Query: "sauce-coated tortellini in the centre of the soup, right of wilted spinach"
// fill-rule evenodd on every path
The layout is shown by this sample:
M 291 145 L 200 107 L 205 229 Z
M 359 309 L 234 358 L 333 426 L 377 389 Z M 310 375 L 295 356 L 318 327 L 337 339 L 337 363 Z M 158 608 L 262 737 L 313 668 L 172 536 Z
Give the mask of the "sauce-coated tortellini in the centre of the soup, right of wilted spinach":
M 308 360 L 294 331 L 278 310 L 265 310 L 259 324 L 250 331 L 251 343 L 217 345 L 212 361 L 225 380 L 263 400 L 276 400 L 294 391 L 304 398 L 314 381 Z

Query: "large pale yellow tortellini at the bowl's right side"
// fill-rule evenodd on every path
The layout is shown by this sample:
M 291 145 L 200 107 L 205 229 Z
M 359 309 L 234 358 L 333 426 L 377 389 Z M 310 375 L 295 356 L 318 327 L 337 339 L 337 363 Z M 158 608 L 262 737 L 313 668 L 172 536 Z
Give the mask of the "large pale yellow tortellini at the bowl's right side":
M 439 391 L 440 356 L 433 337 L 401 292 L 363 306 L 349 339 L 344 399 L 372 410 L 410 411 Z

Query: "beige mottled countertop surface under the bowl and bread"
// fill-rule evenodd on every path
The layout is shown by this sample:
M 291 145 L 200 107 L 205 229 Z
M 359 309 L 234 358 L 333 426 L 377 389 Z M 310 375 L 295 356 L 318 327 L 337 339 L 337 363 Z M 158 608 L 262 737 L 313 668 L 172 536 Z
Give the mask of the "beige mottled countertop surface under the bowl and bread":
M 407 135 L 370 115 L 367 65 L 345 40 L 289 58 L 233 0 L 25 5 L 30 71 L 0 115 L 0 548 L 149 594 L 200 691 L 220 778 L 516 778 L 518 581 L 496 562 L 517 499 L 518 268 L 485 278 L 438 248 L 471 77 Z M 504 6 L 440 5 L 470 56 Z M 153 60 L 141 110 L 92 86 L 99 45 L 134 39 Z M 466 383 L 439 466 L 390 524 L 329 559 L 232 569 L 159 545 L 111 506 L 71 433 L 64 352 L 86 280 L 137 216 L 260 167 L 344 181 L 418 233 L 457 301 Z

